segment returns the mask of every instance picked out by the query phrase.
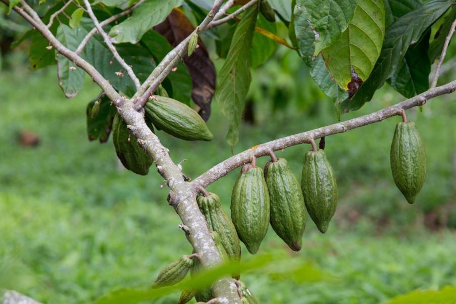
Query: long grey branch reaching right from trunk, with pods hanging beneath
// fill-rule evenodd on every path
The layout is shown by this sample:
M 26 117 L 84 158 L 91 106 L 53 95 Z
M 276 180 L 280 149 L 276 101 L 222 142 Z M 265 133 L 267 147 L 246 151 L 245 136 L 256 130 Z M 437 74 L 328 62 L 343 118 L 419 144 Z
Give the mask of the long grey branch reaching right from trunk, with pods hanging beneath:
M 226 176 L 230 171 L 244 164 L 247 164 L 250 162 L 252 154 L 258 158 L 268 155 L 270 150 L 282 150 L 293 145 L 308 143 L 310 142 L 311 138 L 322 138 L 332 134 L 342 133 L 351 129 L 356 129 L 369 124 L 380 122 L 384 119 L 396 115 L 401 115 L 401 111 L 403 110 L 422 106 L 426 103 L 426 100 L 442 94 L 452 93 L 454 90 L 456 90 L 456 80 L 436 88 L 431 88 L 422 94 L 368 115 L 321 127 L 315 130 L 283 137 L 252 147 L 235 156 L 232 156 L 231 158 L 219 163 L 218 165 L 212 167 L 205 173 L 198 176 L 191 182 L 193 191 L 196 192 L 200 186 L 207 187 L 219 178 Z

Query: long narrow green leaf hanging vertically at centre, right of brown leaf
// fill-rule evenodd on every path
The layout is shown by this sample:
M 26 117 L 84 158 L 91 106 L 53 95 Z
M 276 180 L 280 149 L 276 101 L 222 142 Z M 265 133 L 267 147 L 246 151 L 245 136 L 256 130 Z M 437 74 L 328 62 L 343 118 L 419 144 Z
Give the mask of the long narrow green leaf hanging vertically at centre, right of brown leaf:
M 234 146 L 239 140 L 239 125 L 250 86 L 250 47 L 254 37 L 258 5 L 248 9 L 237 24 L 227 59 L 219 72 L 215 98 L 229 120 L 227 142 Z

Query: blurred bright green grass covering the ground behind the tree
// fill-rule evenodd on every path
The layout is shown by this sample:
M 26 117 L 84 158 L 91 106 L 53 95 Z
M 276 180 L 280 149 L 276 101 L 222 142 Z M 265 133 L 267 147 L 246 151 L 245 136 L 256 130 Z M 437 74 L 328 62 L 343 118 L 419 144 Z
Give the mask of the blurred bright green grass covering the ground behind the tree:
M 124 170 L 112 142 L 88 142 L 85 106 L 98 88 L 87 81 L 77 97 L 67 100 L 54 72 L 16 68 L 0 75 L 0 286 L 46 303 L 86 303 L 112 289 L 148 286 L 164 265 L 191 252 L 177 227 L 180 220 L 167 204 L 168 193 L 160 189 L 163 180 L 154 168 L 146 177 Z M 399 98 L 383 90 L 375 102 L 344 119 Z M 294 254 L 269 229 L 260 253 L 289 255 L 328 277 L 303 281 L 306 275 L 299 275 L 299 268 L 285 276 L 266 270 L 243 275 L 261 303 L 378 303 L 417 288 L 456 285 L 454 233 L 430 233 L 422 225 L 422 211 L 454 204 L 449 160 L 456 108 L 448 100 L 436 98 L 423 113 L 408 113 L 417 121 L 428 153 L 427 181 L 413 206 L 390 176 L 389 145 L 399 118 L 326 139 L 341 196 L 329 231 L 320 234 L 309 218 L 303 249 Z M 242 127 L 235 153 L 335 122 L 327 103 L 298 114 L 293 109 L 272 114 L 269 105 L 256 106 L 258 125 Z M 186 160 L 182 165 L 188 176 L 231 155 L 227 124 L 217 106 L 213 109 L 212 142 L 158 133 L 175 162 Z M 22 129 L 38 134 L 37 148 L 17 143 Z M 299 176 L 307 149 L 300 145 L 277 155 Z M 266 162 L 259 160 L 260 165 Z M 237 174 L 209 187 L 222 197 L 226 210 Z M 245 248 L 243 255 L 248 256 Z M 158 302 L 175 303 L 178 296 Z

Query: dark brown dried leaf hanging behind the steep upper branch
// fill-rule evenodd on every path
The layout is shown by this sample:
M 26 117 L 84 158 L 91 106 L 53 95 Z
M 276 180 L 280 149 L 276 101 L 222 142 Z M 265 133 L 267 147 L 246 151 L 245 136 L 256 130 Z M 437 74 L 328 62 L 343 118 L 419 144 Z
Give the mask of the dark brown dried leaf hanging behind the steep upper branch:
M 179 9 L 174 9 L 162 23 L 154 26 L 154 30 L 165 36 L 172 46 L 176 46 L 194 31 L 190 21 Z M 216 72 L 209 53 L 198 38 L 195 52 L 183 58 L 192 80 L 191 97 L 201 109 L 199 115 L 207 121 L 211 115 L 211 101 L 214 95 Z

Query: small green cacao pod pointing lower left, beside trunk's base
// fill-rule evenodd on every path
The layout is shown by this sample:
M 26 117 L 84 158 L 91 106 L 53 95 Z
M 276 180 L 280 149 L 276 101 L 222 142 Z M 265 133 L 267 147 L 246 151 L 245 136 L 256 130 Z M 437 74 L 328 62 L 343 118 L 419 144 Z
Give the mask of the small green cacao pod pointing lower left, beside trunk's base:
M 193 259 L 189 256 L 182 256 L 174 262 L 171 262 L 159 273 L 152 288 L 171 286 L 179 283 L 188 273 L 193 265 Z

